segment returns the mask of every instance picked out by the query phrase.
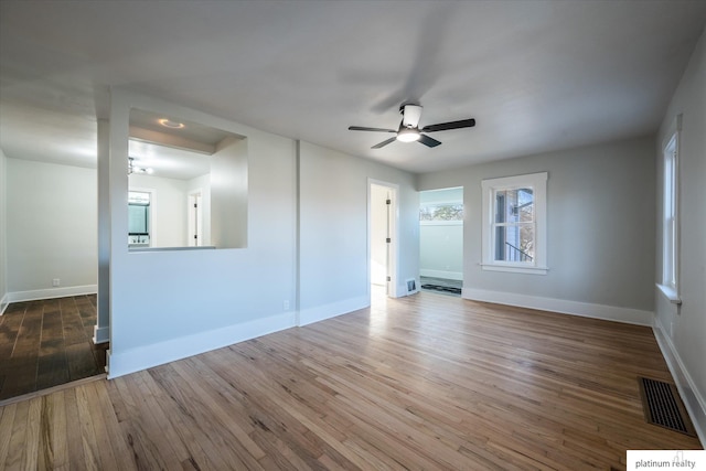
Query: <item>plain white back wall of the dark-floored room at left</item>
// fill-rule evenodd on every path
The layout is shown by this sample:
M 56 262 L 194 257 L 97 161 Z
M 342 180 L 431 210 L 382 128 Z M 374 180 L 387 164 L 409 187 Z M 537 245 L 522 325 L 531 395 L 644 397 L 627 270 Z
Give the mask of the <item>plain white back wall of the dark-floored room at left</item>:
M 11 301 L 95 292 L 96 170 L 7 159 Z M 61 287 L 52 287 L 58 278 Z

